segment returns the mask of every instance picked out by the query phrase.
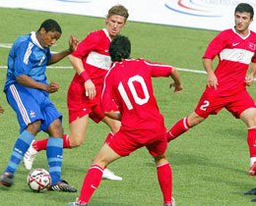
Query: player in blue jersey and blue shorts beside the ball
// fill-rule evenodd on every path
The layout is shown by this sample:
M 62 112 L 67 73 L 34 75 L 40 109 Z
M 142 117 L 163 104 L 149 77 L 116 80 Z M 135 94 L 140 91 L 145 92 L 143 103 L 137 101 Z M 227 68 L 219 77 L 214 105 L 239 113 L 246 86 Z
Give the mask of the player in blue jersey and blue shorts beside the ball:
M 58 91 L 59 85 L 47 82 L 46 66 L 54 64 L 77 47 L 78 39 L 70 36 L 69 49 L 51 54 L 49 47 L 61 36 L 61 27 L 54 20 L 44 21 L 39 29 L 20 36 L 13 44 L 8 57 L 8 70 L 4 92 L 8 103 L 17 114 L 20 136 L 0 182 L 13 184 L 14 174 L 30 147 L 36 133 L 43 130 L 49 134 L 46 156 L 51 176 L 49 190 L 76 192 L 75 187 L 61 180 L 63 153 L 62 115 L 49 99 L 49 93 Z

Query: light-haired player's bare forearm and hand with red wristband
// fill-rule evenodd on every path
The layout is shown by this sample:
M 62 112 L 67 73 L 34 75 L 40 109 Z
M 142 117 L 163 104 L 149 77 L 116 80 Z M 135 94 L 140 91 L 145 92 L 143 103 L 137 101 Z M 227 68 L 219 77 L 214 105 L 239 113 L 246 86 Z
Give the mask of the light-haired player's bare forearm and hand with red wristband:
M 77 72 L 78 75 L 82 75 L 86 72 L 83 66 L 83 62 L 81 59 L 74 57 L 73 55 L 69 56 L 69 60 Z M 85 74 L 84 74 L 85 75 Z M 90 99 L 95 98 L 96 96 L 96 86 L 94 82 L 90 79 L 90 77 L 85 77 L 85 89 L 86 89 L 86 95 L 89 96 Z

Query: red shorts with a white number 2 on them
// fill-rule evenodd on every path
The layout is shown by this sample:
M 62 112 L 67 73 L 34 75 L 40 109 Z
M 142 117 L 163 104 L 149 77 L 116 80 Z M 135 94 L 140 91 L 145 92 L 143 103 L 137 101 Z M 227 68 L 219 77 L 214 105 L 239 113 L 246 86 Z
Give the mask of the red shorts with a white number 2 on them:
M 204 92 L 199 100 L 195 113 L 202 118 L 207 118 L 209 115 L 218 114 L 223 108 L 229 111 L 235 118 L 239 119 L 244 110 L 256 108 L 256 105 L 246 90 L 224 97 L 214 96 Z

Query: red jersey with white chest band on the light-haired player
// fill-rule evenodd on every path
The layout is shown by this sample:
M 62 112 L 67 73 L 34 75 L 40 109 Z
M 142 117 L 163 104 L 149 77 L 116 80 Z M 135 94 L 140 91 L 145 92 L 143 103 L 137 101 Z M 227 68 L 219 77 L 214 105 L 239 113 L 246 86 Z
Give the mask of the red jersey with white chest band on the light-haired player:
M 68 108 L 79 111 L 100 104 L 103 77 L 110 69 L 111 59 L 108 53 L 110 37 L 105 28 L 91 32 L 79 45 L 73 56 L 83 62 L 85 72 L 95 83 L 96 97 L 86 96 L 84 79 L 78 74 L 73 78 L 68 92 Z

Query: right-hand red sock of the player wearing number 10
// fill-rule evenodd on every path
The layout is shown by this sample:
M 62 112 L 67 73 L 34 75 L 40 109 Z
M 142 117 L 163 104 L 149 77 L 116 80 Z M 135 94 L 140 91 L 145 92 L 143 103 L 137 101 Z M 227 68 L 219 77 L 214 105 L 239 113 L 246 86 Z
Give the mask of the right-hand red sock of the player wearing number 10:
M 168 163 L 158 166 L 158 177 L 160 181 L 160 189 L 163 195 L 163 205 L 171 204 L 172 175 Z

